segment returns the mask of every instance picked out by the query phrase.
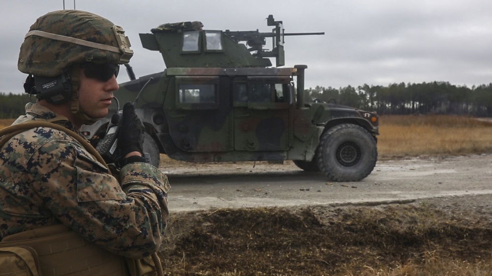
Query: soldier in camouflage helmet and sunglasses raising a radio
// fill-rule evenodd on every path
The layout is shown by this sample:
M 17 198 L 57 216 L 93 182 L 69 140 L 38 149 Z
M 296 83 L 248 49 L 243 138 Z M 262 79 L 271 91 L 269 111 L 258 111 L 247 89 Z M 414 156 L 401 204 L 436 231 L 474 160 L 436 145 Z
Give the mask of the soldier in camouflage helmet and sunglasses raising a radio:
M 78 134 L 83 124 L 106 116 L 119 88 L 119 65 L 133 55 L 129 46 L 123 28 L 89 12 L 61 10 L 39 17 L 18 60 L 18 69 L 28 74 L 24 88 L 38 101 L 27 104 L 26 115 L 13 125 L 53 122 Z M 81 237 L 83 250 L 67 250 L 72 242 L 61 241 L 67 248 L 55 264 L 46 264 L 51 253 L 36 244 L 43 275 L 143 275 L 131 263 L 159 250 L 170 186 L 142 157 L 143 125 L 131 103 L 124 105 L 122 124 L 119 175 L 112 175 L 77 134 L 55 128 L 34 127 L 1 145 L 0 247 L 6 240 L 15 244 L 17 235 L 64 225 Z M 50 240 L 51 251 L 57 239 Z M 100 248 L 97 256 L 88 253 Z

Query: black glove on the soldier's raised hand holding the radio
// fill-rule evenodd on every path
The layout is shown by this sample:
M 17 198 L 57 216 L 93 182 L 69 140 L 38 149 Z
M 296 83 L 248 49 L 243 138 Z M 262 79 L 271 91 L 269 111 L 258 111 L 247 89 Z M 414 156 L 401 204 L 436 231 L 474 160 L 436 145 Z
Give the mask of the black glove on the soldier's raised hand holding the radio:
M 144 129 L 144 124 L 135 114 L 133 104 L 130 102 L 124 104 L 122 126 L 118 134 L 118 146 L 122 158 L 132 151 L 143 154 Z

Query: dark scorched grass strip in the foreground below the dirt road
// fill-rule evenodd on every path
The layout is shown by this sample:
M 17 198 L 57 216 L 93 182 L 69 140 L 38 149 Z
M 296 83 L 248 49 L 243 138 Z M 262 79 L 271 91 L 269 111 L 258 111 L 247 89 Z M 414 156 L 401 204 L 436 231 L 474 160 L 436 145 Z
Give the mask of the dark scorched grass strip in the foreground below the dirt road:
M 357 275 L 419 265 L 429 252 L 488 261 L 491 206 L 475 198 L 176 213 L 159 256 L 165 274 L 190 276 Z

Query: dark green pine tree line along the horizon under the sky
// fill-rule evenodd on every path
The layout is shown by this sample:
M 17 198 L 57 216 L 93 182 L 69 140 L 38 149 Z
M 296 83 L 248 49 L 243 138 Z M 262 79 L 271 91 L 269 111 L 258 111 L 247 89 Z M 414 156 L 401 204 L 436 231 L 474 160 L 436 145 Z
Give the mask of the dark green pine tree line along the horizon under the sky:
M 456 86 L 448 82 L 392 83 L 340 88 L 316 86 L 305 90 L 307 102 L 323 101 L 390 114 L 458 114 L 492 117 L 492 83 Z M 0 92 L 0 118 L 24 114 L 28 94 Z

